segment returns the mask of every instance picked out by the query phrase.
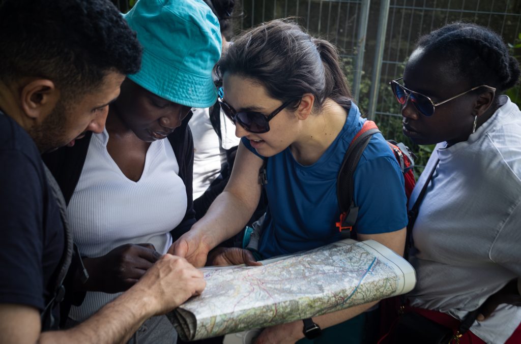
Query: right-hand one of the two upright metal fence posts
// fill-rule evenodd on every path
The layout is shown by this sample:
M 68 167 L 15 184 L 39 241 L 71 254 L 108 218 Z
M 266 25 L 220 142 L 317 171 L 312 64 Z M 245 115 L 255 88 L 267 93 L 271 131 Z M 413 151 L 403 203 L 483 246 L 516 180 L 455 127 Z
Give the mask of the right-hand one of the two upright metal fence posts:
M 371 90 L 369 91 L 369 106 L 367 118 L 375 118 L 376 104 L 378 103 L 378 91 L 380 88 L 380 74 L 382 71 L 383 48 L 387 33 L 387 19 L 389 18 L 390 0 L 380 2 L 380 16 L 378 30 L 376 32 L 375 62 L 373 63 L 373 76 L 371 77 Z

